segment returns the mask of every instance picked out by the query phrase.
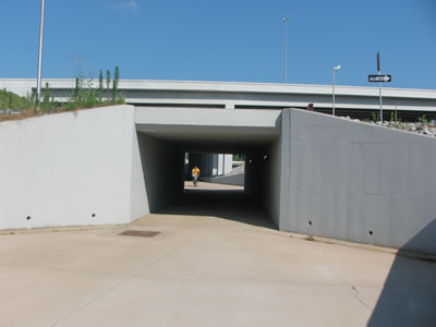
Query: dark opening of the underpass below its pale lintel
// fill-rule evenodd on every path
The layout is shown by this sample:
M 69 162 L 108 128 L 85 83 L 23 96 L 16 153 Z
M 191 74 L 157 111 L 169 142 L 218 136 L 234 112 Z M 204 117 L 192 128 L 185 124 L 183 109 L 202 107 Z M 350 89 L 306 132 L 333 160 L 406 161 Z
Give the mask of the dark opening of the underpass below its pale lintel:
M 241 175 L 237 175 L 237 183 L 228 184 L 214 181 L 228 177 L 220 169 L 210 166 L 213 173 L 208 172 L 207 165 L 210 157 L 218 159 L 222 159 L 222 155 L 232 157 L 229 152 L 234 152 L 234 149 L 220 148 L 221 156 L 218 156 L 218 153 L 211 153 L 214 149 L 201 152 L 197 148 L 195 152 L 186 153 L 183 146 L 174 141 L 146 134 L 138 133 L 138 140 L 142 142 L 142 156 L 146 158 L 143 171 L 150 213 L 181 217 L 213 216 L 277 229 L 268 213 L 268 209 L 275 206 L 274 203 L 268 203 L 274 199 L 274 195 L 270 194 L 270 189 L 274 186 L 268 185 L 270 170 L 272 170 L 268 167 L 271 164 L 268 150 L 270 144 L 247 149 L 238 148 L 238 153 L 243 153 L 245 157 L 244 173 L 241 174 L 242 183 L 238 184 Z M 186 154 L 191 157 L 187 162 Z M 192 168 L 195 166 L 202 171 L 196 187 L 193 185 L 191 175 Z M 245 168 L 245 166 L 249 167 Z

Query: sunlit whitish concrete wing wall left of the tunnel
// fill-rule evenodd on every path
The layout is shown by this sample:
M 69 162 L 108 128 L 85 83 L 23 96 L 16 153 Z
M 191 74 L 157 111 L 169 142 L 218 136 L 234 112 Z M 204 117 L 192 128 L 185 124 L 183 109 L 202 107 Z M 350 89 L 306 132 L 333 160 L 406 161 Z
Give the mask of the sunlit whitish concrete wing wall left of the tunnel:
M 129 222 L 133 131 L 132 106 L 0 122 L 0 229 Z

